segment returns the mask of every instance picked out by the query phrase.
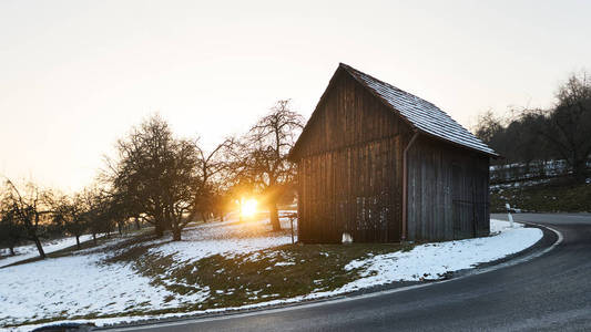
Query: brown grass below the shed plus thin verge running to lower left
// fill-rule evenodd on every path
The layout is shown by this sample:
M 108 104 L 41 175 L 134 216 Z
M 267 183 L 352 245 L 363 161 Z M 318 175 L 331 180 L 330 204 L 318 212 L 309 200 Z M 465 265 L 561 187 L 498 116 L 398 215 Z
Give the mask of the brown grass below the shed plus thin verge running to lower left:
M 261 234 L 256 234 L 261 236 Z M 135 234 L 123 240 L 99 239 L 83 242 L 83 255 L 110 252 L 101 263 L 131 264 L 151 283 L 173 294 L 205 292 L 204 300 L 184 302 L 172 308 L 152 309 L 150 303 L 131 303 L 122 312 L 89 312 L 80 315 L 55 313 L 33 317 L 21 324 L 41 324 L 61 320 L 93 320 L 122 315 L 186 313 L 207 309 L 242 307 L 272 300 L 289 299 L 313 292 L 330 291 L 360 278 L 360 269 L 346 270 L 355 259 L 371 255 L 410 250 L 412 246 L 395 243 L 285 245 L 249 253 L 214 255 L 200 260 L 179 261 L 173 255 L 154 253 L 151 248 L 167 243 L 151 232 Z M 75 246 L 50 253 L 50 257 L 77 255 Z M 37 259 L 31 259 L 33 261 Z M 7 324 L 2 328 L 16 325 Z

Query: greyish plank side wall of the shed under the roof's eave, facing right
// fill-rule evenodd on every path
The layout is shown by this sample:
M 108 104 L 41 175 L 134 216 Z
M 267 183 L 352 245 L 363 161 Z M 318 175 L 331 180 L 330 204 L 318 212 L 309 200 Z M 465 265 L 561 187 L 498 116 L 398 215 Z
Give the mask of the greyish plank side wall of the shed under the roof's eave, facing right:
M 488 235 L 488 157 L 422 136 L 408 158 L 409 240 Z

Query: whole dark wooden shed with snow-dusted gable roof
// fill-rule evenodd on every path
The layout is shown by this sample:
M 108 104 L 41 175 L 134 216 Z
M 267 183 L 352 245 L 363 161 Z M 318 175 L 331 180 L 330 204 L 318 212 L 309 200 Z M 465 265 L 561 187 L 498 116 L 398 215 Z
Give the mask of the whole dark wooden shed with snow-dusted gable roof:
M 297 163 L 298 238 L 486 236 L 496 156 L 434 104 L 339 64 L 289 155 Z

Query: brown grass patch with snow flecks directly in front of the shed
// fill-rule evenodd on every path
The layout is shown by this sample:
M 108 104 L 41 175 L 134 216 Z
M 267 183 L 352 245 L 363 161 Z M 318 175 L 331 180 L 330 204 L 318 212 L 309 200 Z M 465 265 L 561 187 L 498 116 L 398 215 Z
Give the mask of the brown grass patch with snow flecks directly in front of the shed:
M 175 294 L 208 289 L 206 300 L 187 303 L 179 311 L 240 307 L 335 290 L 359 278 L 359 269 L 345 269 L 351 260 L 409 249 L 381 243 L 285 245 L 180 263 L 172 255 L 149 253 L 151 247 L 153 245 L 133 247 L 108 262 L 132 262 L 139 273 L 152 279 L 154 286 L 162 286 Z

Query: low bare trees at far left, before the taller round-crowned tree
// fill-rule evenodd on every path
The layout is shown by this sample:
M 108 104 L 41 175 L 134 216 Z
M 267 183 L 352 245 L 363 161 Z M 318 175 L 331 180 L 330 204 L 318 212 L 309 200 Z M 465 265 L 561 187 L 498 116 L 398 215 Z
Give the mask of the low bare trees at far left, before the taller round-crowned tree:
M 80 248 L 82 235 L 91 234 L 96 242 L 98 235 L 109 236 L 115 225 L 121 232 L 125 221 L 119 218 L 113 197 L 98 188 L 69 196 L 31 181 L 17 186 L 7 179 L 0 194 L 0 248 L 12 255 L 16 246 L 31 241 L 45 258 L 41 239 L 64 235 L 75 237 Z

